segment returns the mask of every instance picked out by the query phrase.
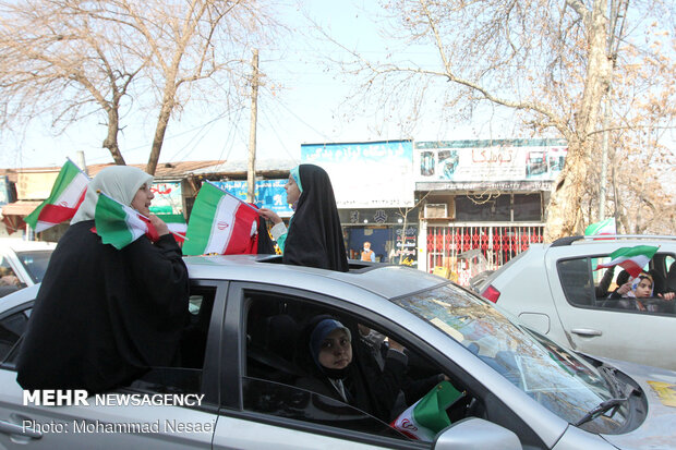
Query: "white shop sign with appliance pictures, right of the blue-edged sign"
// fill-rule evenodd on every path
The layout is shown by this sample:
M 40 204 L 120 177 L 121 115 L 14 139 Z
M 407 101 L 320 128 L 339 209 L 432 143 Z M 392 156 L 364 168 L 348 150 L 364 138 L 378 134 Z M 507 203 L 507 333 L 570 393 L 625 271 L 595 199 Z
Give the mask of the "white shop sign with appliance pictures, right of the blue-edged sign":
M 414 177 L 419 183 L 552 181 L 567 153 L 562 139 L 421 142 L 415 143 Z

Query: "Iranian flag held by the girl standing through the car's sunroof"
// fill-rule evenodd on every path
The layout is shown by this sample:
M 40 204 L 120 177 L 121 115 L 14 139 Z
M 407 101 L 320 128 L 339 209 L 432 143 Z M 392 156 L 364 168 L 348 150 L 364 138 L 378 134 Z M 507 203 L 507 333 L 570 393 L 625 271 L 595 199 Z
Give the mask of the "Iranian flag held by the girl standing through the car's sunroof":
M 188 221 L 184 255 L 254 254 L 258 211 L 214 184 L 202 185 Z

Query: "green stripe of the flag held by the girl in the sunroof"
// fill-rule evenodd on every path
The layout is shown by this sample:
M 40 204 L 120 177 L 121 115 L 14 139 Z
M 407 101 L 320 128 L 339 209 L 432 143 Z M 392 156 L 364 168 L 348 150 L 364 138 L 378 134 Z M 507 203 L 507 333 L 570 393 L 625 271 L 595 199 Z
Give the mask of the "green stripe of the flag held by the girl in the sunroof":
M 188 231 L 185 232 L 185 236 L 189 241 L 183 244 L 184 255 L 204 254 L 204 250 L 209 242 L 218 200 L 222 195 L 222 191 L 209 183 L 204 183 L 202 185 L 190 214 Z

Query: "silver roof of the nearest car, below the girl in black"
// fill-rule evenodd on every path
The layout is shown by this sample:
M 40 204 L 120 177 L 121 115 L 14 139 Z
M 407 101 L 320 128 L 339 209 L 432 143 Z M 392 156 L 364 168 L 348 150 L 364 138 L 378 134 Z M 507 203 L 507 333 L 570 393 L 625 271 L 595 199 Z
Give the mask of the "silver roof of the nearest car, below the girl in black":
M 280 256 L 270 255 L 189 256 L 184 260 L 193 279 L 271 283 L 327 294 L 357 287 L 394 299 L 449 282 L 418 269 L 385 264 L 353 263 L 349 272 L 339 272 L 285 265 Z

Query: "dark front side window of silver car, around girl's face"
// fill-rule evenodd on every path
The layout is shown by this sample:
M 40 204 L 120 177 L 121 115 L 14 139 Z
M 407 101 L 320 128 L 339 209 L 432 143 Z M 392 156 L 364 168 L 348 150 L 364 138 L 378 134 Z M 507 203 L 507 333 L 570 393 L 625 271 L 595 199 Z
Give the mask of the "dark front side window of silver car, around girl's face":
M 248 291 L 245 302 L 241 382 L 249 412 L 408 439 L 388 424 L 444 379 L 437 366 L 409 349 L 407 363 L 397 372 L 396 363 L 387 360 L 387 333 L 354 314 L 266 292 Z M 316 362 L 306 342 L 312 327 L 306 324 L 317 315 L 330 315 L 351 330 L 352 362 L 350 375 L 342 379 L 343 398 L 312 366 Z M 468 415 L 470 403 L 479 408 L 475 399 L 459 391 L 459 400 L 446 411 L 452 422 Z

